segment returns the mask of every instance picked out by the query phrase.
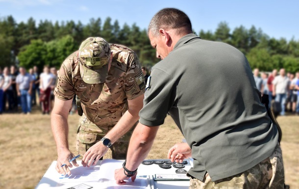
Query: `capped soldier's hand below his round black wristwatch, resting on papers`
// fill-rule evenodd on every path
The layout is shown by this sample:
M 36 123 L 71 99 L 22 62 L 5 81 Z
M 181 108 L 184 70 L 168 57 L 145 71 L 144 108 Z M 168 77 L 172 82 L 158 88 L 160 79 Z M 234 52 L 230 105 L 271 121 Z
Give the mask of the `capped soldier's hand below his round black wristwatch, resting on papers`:
M 102 141 L 97 142 L 95 145 L 90 147 L 84 154 L 82 159 L 82 165 L 90 167 L 91 165 L 97 164 L 101 157 L 103 157 L 108 151 L 108 147 L 104 146 Z

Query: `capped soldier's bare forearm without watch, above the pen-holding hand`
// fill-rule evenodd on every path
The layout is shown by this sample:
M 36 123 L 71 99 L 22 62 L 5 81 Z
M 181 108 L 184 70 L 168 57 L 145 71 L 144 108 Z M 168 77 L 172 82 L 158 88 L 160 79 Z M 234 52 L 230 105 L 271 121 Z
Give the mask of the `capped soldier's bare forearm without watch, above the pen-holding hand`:
M 51 127 L 54 139 L 56 141 L 57 152 L 63 149 L 69 149 L 69 127 L 67 118 L 63 117 L 62 115 L 52 113 Z

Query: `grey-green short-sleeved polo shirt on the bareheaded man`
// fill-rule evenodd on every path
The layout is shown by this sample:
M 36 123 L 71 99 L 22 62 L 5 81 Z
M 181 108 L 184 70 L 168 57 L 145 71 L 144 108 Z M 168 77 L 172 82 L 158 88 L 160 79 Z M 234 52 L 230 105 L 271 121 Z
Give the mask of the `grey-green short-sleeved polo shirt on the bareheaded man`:
M 274 152 L 278 133 L 259 100 L 249 63 L 220 42 L 182 37 L 151 70 L 139 122 L 163 124 L 169 113 L 192 148 L 189 174 L 217 181 Z

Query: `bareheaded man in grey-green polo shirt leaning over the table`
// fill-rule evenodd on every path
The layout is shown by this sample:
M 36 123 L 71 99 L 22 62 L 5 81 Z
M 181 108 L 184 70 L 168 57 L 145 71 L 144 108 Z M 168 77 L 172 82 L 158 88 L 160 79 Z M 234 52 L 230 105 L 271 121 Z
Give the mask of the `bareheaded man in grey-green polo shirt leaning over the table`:
M 283 189 L 278 131 L 244 54 L 200 39 L 188 16 L 174 8 L 154 15 L 149 40 L 162 60 L 148 78 L 126 161 L 115 171 L 117 184 L 134 181 L 169 113 L 187 143 L 175 144 L 168 158 L 194 159 L 190 189 Z

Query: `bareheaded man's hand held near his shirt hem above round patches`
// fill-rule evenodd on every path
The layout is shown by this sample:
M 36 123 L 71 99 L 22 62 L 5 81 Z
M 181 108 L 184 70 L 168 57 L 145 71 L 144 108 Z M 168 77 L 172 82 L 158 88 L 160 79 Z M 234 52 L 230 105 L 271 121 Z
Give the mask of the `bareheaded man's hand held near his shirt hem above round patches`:
M 191 157 L 192 150 L 187 143 L 177 143 L 168 151 L 167 158 L 171 162 L 183 162 L 184 159 Z

